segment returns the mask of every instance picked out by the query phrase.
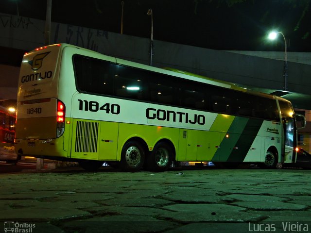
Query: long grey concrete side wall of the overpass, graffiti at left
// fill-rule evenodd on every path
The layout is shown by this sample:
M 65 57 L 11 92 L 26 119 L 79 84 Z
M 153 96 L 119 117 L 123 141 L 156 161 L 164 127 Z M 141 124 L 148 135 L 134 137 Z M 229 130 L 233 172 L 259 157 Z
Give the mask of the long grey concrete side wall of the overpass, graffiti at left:
M 61 23 L 52 23 L 51 31 L 51 44 L 74 44 L 106 55 L 149 64 L 150 40 L 148 38 Z M 0 14 L 0 46 L 33 50 L 44 45 L 43 32 L 43 20 Z M 154 38 L 156 38 L 156 33 Z M 178 68 L 259 88 L 277 90 L 284 88 L 284 62 L 253 55 L 155 40 L 153 66 Z M 289 91 L 310 94 L 310 77 L 310 65 L 288 62 L 287 86 Z M 0 74 L 0 80 L 6 78 L 7 76 Z

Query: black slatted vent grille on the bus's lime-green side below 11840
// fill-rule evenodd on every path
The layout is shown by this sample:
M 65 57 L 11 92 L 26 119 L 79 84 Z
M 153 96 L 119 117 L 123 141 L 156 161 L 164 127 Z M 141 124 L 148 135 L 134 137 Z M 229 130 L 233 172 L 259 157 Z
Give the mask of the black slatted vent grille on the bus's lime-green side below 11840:
M 98 122 L 77 121 L 75 152 L 97 152 Z

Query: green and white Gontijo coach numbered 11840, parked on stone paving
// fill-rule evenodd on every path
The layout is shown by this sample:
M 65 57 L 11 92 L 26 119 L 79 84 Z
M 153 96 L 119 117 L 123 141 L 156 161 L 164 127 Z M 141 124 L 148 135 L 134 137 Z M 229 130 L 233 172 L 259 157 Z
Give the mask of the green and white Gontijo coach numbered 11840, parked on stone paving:
M 292 104 L 232 83 L 57 44 L 24 55 L 18 85 L 20 155 L 125 171 L 295 162 Z

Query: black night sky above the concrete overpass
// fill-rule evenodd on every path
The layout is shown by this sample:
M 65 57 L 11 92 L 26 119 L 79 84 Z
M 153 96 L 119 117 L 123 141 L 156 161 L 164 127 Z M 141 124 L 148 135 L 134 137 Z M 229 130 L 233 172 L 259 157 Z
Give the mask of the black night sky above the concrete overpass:
M 311 0 L 123 0 L 123 33 L 216 50 L 311 52 Z M 17 3 L 16 3 L 17 2 Z M 86 3 L 81 3 L 86 2 Z M 234 3 L 237 2 L 237 3 Z M 234 4 L 231 4 L 234 3 Z M 46 0 L 1 0 L 0 12 L 45 20 Z M 121 0 L 52 0 L 52 21 L 121 32 Z

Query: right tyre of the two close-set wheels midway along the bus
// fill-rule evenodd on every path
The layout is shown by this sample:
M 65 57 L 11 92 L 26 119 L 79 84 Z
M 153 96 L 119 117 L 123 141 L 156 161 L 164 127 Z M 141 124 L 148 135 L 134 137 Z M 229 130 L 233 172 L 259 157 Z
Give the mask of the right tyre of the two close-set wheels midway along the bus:
M 147 158 L 147 169 L 151 171 L 166 171 L 172 165 L 172 157 L 172 147 L 165 142 L 159 142 Z

